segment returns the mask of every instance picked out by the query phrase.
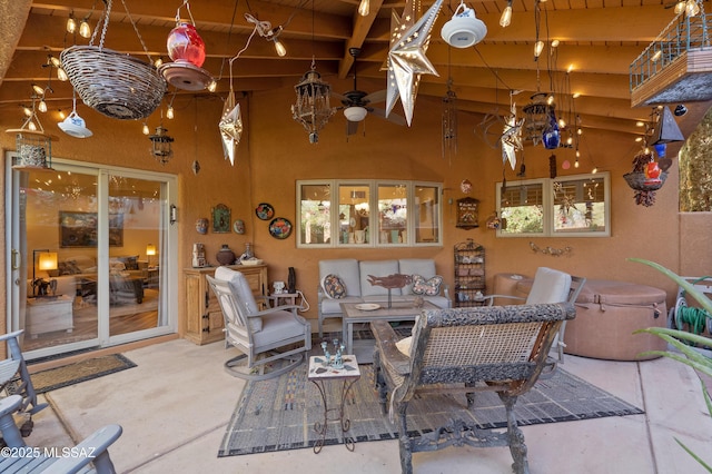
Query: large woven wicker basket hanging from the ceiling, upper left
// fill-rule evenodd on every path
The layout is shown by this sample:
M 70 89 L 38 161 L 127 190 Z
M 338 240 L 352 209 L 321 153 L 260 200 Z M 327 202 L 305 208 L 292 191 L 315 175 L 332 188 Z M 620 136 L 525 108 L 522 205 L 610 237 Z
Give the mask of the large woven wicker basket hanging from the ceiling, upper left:
M 166 93 L 166 81 L 152 63 L 103 48 L 111 0 L 106 0 L 105 4 L 99 46 L 92 45 L 99 30 L 97 28 L 89 46 L 72 46 L 61 52 L 59 59 L 62 69 L 87 106 L 110 118 L 144 119 L 160 105 Z M 126 3 L 123 7 L 126 8 Z M 128 9 L 127 14 L 138 34 Z M 148 49 L 140 34 L 139 40 L 150 61 Z

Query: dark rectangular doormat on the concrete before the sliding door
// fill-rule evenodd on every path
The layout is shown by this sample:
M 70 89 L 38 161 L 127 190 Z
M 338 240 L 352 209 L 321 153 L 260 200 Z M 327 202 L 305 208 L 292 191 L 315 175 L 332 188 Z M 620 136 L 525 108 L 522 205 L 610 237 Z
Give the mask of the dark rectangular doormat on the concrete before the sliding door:
M 32 385 L 38 394 L 68 387 L 80 382 L 103 377 L 136 367 L 134 362 L 121 354 L 111 354 L 101 357 L 93 357 L 62 367 L 49 368 L 47 371 L 31 374 Z

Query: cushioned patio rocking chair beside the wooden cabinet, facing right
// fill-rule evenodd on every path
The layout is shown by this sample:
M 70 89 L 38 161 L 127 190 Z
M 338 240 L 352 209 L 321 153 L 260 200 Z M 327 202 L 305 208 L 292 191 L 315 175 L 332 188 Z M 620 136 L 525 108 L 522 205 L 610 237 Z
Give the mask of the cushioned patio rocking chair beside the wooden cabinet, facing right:
M 245 276 L 227 267 L 218 267 L 215 278 L 206 278 L 222 309 L 226 346 L 243 353 L 225 363 L 229 374 L 264 381 L 291 371 L 305 359 L 312 348 L 312 325 L 297 314 L 301 306 L 259 310 Z

